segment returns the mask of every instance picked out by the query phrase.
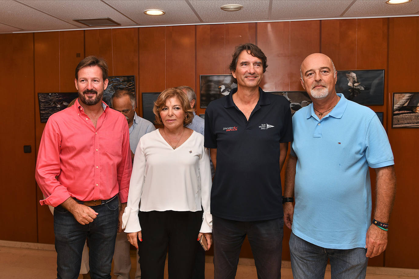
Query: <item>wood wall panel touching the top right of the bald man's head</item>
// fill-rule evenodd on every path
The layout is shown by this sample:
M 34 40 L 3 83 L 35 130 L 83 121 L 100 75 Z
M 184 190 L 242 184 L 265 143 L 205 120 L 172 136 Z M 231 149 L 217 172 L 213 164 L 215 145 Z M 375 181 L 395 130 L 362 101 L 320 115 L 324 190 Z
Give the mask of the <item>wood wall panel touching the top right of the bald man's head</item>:
M 338 70 L 356 69 L 357 19 L 322 20 L 321 53 L 329 56 Z

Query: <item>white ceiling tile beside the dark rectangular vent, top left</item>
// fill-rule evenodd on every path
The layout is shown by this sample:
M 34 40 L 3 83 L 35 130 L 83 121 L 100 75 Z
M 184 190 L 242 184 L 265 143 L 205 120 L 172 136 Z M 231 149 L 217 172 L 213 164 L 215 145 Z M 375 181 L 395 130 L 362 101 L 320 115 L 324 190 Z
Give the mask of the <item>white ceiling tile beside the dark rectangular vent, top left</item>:
M 42 10 L 50 15 L 86 27 L 73 21 L 80 18 L 111 18 L 121 25 L 135 25 L 136 23 L 109 7 L 100 0 L 19 0 L 26 5 Z M 123 2 L 123 1 L 122 1 Z

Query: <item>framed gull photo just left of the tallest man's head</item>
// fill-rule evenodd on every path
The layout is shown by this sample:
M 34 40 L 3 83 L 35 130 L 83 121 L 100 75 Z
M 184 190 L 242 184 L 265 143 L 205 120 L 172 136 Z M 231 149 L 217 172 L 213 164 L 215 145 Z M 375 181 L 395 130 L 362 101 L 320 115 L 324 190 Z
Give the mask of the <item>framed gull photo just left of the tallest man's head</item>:
M 209 102 L 227 96 L 237 84 L 231 74 L 199 75 L 199 107 L 206 108 Z

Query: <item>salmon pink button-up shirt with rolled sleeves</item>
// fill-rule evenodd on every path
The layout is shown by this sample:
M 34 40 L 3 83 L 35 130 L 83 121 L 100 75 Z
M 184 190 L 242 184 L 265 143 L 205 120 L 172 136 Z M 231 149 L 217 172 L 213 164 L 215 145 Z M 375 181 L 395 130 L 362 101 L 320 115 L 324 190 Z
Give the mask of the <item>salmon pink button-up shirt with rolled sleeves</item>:
M 49 117 L 35 171 L 47 197 L 41 205 L 56 207 L 69 197 L 107 200 L 116 194 L 127 202 L 132 171 L 128 123 L 122 113 L 102 105 L 96 128 L 78 100 Z

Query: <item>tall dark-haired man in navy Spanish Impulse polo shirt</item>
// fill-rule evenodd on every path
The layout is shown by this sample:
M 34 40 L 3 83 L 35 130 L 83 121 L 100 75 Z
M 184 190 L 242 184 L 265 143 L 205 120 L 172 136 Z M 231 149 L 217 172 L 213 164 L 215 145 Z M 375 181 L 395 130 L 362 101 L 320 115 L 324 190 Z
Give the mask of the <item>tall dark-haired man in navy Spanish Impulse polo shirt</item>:
M 281 277 L 283 237 L 280 171 L 292 141 L 290 104 L 259 87 L 266 56 L 236 47 L 230 64 L 237 88 L 209 103 L 205 142 L 215 168 L 211 190 L 214 277 L 234 278 L 248 237 L 258 278 Z

